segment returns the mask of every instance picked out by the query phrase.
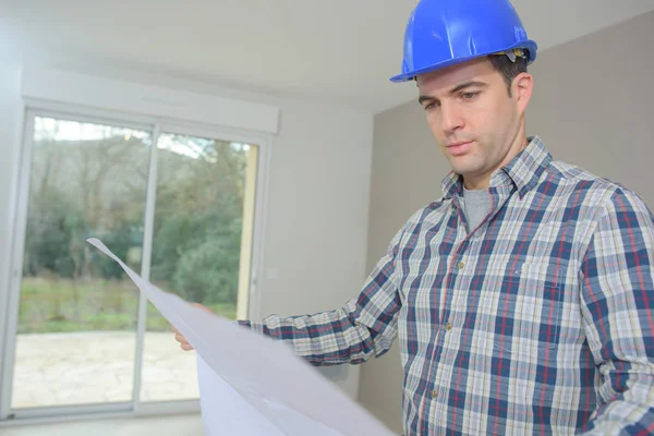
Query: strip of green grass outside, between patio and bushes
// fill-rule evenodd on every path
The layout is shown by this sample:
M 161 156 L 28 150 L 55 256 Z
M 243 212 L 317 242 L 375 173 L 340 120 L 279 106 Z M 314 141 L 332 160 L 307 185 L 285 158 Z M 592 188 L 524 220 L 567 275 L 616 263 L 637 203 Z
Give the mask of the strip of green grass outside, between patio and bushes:
M 165 284 L 157 286 L 166 289 Z M 130 280 L 23 278 L 19 334 L 134 331 L 138 294 L 138 289 Z M 235 303 L 207 306 L 220 316 L 235 318 Z M 166 318 L 149 302 L 147 330 L 169 330 Z

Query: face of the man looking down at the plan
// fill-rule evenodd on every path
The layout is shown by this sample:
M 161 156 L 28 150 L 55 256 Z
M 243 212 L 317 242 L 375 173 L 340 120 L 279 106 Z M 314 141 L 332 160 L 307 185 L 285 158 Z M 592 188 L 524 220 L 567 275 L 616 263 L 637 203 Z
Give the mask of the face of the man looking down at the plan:
M 487 58 L 417 76 L 427 123 L 455 172 L 468 189 L 485 189 L 491 174 L 524 146 L 524 110 L 531 75 L 511 84 Z

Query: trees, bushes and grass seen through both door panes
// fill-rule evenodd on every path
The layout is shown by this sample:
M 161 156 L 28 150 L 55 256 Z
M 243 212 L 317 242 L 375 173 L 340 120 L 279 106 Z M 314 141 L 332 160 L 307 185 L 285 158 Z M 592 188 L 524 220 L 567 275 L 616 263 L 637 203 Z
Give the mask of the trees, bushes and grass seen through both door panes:
M 166 136 L 195 155 L 158 149 L 150 279 L 233 317 L 246 153 L 231 143 Z M 100 238 L 138 271 L 148 156 L 147 144 L 124 133 L 36 143 L 22 332 L 134 328 L 137 293 L 120 266 L 85 240 Z M 149 328 L 168 328 L 154 307 L 148 315 Z

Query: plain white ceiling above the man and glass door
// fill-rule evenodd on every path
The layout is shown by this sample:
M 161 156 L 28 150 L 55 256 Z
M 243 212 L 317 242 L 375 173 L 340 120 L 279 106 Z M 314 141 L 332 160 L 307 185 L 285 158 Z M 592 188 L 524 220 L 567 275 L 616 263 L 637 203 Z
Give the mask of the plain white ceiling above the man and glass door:
M 0 0 L 14 50 L 379 112 L 414 98 L 399 72 L 416 0 Z M 654 0 L 514 0 L 541 49 L 654 10 Z

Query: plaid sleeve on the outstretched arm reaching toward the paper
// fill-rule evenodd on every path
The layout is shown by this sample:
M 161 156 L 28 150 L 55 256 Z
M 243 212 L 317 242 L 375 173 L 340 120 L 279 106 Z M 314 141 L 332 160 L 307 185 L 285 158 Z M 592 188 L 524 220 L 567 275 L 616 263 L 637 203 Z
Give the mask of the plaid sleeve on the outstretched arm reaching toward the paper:
M 269 315 L 241 325 L 291 344 L 314 366 L 358 364 L 385 354 L 397 337 L 401 307 L 396 274 L 403 228 L 367 277 L 358 298 L 338 310 L 313 315 Z

